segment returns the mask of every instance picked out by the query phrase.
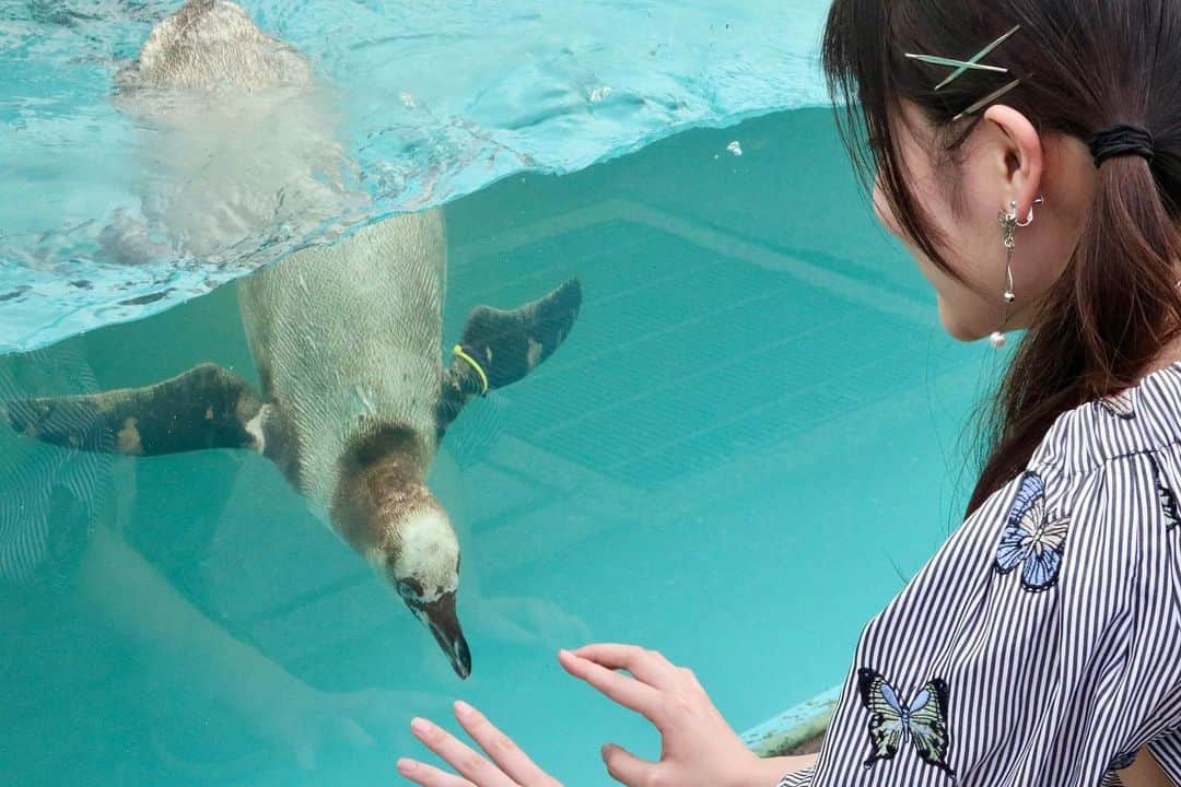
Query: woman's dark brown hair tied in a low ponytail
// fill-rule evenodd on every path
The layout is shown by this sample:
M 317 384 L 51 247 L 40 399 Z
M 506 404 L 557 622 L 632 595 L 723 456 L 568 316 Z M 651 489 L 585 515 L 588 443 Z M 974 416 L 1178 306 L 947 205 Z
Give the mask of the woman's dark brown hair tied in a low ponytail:
M 985 58 L 1007 74 L 971 71 L 935 92 L 948 68 L 905 57 L 965 60 L 1018 25 Z M 1078 245 L 981 419 L 983 468 L 971 512 L 1025 467 L 1061 413 L 1135 383 L 1181 334 L 1173 268 L 1181 204 L 1181 2 L 835 0 L 823 65 L 841 135 L 863 181 L 876 178 L 900 228 L 960 281 L 906 182 L 890 123 L 901 100 L 916 105 L 935 130 L 941 168 L 957 165 L 980 113 L 953 118 L 1014 78 L 1020 85 L 998 100 L 1042 133 L 1087 142 L 1130 123 L 1155 138 L 1150 162 L 1118 157 L 1098 170 Z

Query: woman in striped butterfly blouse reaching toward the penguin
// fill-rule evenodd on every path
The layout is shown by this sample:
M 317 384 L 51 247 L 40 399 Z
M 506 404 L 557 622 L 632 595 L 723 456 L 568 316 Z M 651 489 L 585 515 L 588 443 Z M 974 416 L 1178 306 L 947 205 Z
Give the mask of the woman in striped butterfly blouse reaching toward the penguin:
M 755 760 L 687 673 L 593 645 L 562 665 L 664 739 L 658 763 L 607 747 L 608 770 L 679 787 L 1181 783 L 1181 4 L 836 0 L 824 66 L 947 332 L 1027 334 L 967 519 L 864 629 L 818 759 Z M 416 721 L 465 779 L 403 775 L 555 783 L 458 716 L 491 762 Z

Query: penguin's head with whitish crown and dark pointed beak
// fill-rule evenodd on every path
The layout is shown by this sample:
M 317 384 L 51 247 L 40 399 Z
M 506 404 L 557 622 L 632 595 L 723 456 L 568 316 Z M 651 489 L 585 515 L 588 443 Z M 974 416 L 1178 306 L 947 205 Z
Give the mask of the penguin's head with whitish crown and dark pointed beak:
M 415 617 L 430 629 L 456 675 L 468 677 L 471 651 L 455 608 L 459 542 L 433 496 L 398 523 L 386 549 L 385 573 Z

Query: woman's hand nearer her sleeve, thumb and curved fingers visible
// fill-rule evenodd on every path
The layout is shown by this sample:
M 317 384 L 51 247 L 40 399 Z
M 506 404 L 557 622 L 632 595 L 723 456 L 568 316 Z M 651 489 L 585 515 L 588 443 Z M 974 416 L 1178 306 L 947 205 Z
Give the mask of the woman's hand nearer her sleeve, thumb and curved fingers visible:
M 654 650 L 595 644 L 561 651 L 574 677 L 642 714 L 660 732 L 660 761 L 650 762 L 614 743 L 602 748 L 612 779 L 628 787 L 748 787 L 774 785 L 787 770 L 758 759 L 713 707 L 689 669 Z M 627 670 L 632 677 L 615 670 Z

